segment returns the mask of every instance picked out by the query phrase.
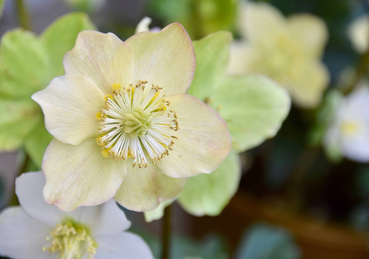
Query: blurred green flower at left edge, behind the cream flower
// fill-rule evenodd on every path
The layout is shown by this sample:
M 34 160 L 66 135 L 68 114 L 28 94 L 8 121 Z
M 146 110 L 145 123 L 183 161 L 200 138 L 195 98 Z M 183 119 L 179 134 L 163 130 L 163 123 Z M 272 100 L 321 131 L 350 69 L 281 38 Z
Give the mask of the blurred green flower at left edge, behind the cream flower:
M 67 14 L 52 23 L 39 37 L 16 29 L 1 38 L 0 45 L 0 151 L 24 148 L 36 165 L 52 136 L 31 95 L 64 73 L 63 55 L 82 30 L 94 25 L 85 14 Z

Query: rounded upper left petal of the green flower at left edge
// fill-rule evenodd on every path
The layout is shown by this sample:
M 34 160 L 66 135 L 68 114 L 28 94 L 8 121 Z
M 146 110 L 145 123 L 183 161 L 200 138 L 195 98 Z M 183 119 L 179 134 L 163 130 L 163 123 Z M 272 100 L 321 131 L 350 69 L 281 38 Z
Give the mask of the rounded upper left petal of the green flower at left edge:
M 30 97 L 51 79 L 47 52 L 32 32 L 15 29 L 1 38 L 0 94 Z

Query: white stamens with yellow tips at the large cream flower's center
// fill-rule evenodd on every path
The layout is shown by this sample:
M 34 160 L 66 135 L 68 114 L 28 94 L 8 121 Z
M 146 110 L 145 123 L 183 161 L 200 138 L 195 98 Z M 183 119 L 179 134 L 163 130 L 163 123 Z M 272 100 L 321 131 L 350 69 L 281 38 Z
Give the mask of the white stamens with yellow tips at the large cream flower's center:
M 161 87 L 152 84 L 145 91 L 147 81 L 138 81 L 127 88 L 113 84 L 113 95 L 105 96 L 105 108 L 96 114 L 101 122 L 97 144 L 103 146 L 104 157 L 133 159 L 133 167 L 147 167 L 146 155 L 155 162 L 169 155 L 173 149 L 172 131 L 179 129 L 178 114 L 167 110 L 170 101 L 160 93 Z M 169 149 L 169 150 L 168 150 Z

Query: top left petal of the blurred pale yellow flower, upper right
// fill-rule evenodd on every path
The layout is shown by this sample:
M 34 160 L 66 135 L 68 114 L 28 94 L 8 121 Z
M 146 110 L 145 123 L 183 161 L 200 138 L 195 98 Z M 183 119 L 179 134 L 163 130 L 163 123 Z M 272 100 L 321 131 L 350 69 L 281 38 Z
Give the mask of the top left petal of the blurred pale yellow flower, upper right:
M 249 41 L 273 44 L 275 35 L 288 33 L 286 18 L 270 4 L 243 2 L 239 10 L 240 32 Z

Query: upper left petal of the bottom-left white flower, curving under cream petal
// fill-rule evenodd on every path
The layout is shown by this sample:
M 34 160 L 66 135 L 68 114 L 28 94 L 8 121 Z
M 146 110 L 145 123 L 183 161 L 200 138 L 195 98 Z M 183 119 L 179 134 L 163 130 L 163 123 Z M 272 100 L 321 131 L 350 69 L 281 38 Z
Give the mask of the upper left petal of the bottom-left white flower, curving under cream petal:
M 45 183 L 45 176 L 41 171 L 23 173 L 15 180 L 15 193 L 22 208 L 32 218 L 55 227 L 63 220 L 65 212 L 45 202 L 42 196 Z

